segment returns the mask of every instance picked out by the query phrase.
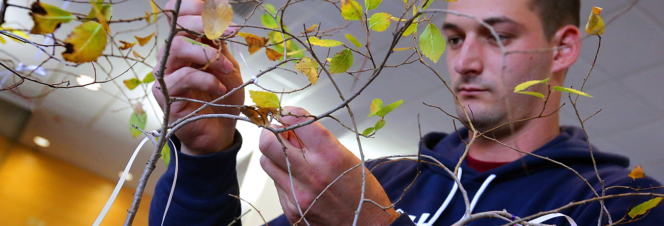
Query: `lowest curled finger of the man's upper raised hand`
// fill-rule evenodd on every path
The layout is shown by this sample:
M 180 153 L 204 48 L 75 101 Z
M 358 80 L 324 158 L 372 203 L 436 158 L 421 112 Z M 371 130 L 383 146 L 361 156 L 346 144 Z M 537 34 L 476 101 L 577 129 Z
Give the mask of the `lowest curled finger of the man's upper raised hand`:
M 166 76 L 164 82 L 169 89 L 169 95 L 174 97 L 185 95 L 192 90 L 203 91 L 214 96 L 226 93 L 226 87 L 216 77 L 195 68 L 180 68 Z

